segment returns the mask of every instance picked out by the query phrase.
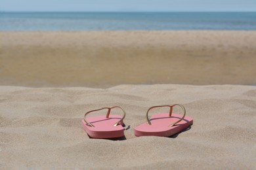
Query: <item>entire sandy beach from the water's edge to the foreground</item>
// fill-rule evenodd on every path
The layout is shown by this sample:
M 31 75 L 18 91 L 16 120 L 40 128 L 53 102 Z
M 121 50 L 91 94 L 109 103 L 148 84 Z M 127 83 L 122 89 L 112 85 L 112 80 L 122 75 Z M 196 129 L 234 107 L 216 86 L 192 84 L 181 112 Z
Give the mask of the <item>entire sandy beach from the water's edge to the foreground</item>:
M 255 169 L 255 47 L 256 31 L 0 32 L 0 169 Z M 135 137 L 175 103 L 189 129 Z M 85 112 L 116 105 L 125 137 L 90 139 Z

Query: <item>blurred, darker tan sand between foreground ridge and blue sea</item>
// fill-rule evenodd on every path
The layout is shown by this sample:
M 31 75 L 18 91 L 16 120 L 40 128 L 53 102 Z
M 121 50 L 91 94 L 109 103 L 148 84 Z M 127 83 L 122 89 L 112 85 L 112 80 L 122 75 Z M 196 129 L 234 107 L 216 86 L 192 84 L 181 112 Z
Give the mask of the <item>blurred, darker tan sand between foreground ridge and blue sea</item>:
M 0 85 L 256 84 L 256 31 L 0 32 Z

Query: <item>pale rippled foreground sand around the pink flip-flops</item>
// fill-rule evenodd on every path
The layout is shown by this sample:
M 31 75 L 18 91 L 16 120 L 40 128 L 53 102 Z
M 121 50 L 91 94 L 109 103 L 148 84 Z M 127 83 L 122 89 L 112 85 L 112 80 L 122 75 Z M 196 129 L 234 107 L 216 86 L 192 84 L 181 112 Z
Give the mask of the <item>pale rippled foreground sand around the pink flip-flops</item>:
M 149 107 L 173 103 L 194 118 L 190 129 L 134 136 Z M 89 139 L 83 114 L 114 105 L 127 112 L 125 138 Z M 0 86 L 0 169 L 255 169 L 255 110 L 255 86 Z

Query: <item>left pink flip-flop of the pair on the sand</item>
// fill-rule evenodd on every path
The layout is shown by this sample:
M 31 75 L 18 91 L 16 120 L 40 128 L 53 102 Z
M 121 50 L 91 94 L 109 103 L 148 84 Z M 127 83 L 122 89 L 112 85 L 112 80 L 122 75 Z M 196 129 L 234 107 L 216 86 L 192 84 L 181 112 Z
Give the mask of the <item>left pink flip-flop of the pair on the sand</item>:
M 123 111 L 123 117 L 119 115 L 110 115 L 110 110 L 119 108 Z M 108 109 L 106 116 L 93 116 L 86 118 L 87 114 L 98 110 Z M 121 107 L 104 107 L 102 109 L 91 110 L 85 113 L 82 119 L 82 126 L 89 137 L 109 139 L 124 136 L 123 119 L 125 118 L 125 110 Z M 117 121 L 117 122 L 116 122 Z

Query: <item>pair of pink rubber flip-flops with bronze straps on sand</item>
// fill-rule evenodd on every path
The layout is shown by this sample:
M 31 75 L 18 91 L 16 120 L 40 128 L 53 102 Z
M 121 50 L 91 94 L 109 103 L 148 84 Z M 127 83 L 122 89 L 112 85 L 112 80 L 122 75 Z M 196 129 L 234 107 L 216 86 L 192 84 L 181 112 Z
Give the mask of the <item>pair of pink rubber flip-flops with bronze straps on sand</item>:
M 151 109 L 158 107 L 169 107 L 169 112 L 154 114 L 148 118 L 148 112 Z M 181 107 L 183 114 L 173 113 L 173 107 Z M 110 115 L 111 109 L 121 109 L 123 116 Z M 96 112 L 98 110 L 107 109 L 106 116 L 93 116 L 86 118 L 87 114 Z M 110 139 L 124 136 L 123 119 L 125 118 L 125 110 L 121 107 L 104 107 L 102 109 L 91 110 L 85 113 L 82 120 L 83 129 L 87 132 L 89 137 Z M 186 110 L 182 105 L 163 105 L 150 107 L 146 112 L 146 122 L 135 127 L 135 136 L 160 136 L 169 137 L 175 133 L 188 128 L 193 124 L 193 119 L 186 116 Z

